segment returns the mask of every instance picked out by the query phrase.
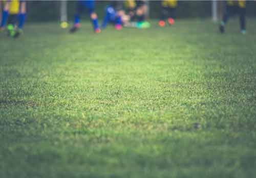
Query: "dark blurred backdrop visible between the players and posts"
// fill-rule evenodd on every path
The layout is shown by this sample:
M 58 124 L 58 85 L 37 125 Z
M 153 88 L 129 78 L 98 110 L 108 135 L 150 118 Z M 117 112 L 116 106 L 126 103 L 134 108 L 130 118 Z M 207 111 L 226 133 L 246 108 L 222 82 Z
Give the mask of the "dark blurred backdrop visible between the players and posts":
M 73 20 L 76 1 L 67 1 L 68 20 Z M 99 18 L 103 17 L 104 8 L 110 1 L 96 1 L 96 12 Z M 218 19 L 223 14 L 225 1 L 179 1 L 177 8 L 177 18 L 211 18 L 212 6 L 216 3 Z M 147 1 L 149 18 L 159 18 L 161 1 Z M 60 20 L 61 1 L 28 1 L 27 2 L 27 21 L 44 22 Z M 255 1 L 246 2 L 246 16 L 256 16 Z M 84 13 L 84 17 L 89 17 Z

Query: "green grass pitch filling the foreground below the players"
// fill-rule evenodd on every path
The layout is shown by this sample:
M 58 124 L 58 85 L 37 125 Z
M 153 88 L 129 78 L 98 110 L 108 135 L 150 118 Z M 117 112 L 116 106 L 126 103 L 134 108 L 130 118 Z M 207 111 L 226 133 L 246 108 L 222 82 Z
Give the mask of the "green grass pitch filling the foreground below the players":
M 255 177 L 256 21 L 0 34 L 0 177 Z

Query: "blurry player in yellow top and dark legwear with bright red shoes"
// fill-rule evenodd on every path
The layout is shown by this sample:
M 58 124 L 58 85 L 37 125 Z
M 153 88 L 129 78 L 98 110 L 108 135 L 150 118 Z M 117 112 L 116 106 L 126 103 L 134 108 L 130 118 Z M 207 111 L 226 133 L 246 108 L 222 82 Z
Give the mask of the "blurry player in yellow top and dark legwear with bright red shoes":
M 176 8 L 177 8 L 177 0 L 164 0 L 161 2 L 161 17 L 158 22 L 160 27 L 165 26 L 165 21 L 167 19 L 167 22 L 169 25 L 174 24 L 174 18 L 176 16 Z

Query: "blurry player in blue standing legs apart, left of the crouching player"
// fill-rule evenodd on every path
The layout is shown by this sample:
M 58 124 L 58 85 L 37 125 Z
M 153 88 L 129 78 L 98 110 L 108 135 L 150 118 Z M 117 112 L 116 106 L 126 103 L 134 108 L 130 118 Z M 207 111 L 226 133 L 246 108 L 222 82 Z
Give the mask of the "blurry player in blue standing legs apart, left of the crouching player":
M 100 32 L 100 28 L 98 26 L 98 16 L 95 13 L 95 8 L 94 8 L 94 1 L 93 0 L 88 0 L 88 1 L 77 1 L 77 9 L 76 9 L 76 14 L 75 14 L 75 19 L 74 19 L 74 26 L 70 29 L 71 33 L 76 32 L 80 28 L 80 15 L 84 11 L 84 9 L 87 9 L 90 18 L 93 24 L 93 29 L 95 33 Z

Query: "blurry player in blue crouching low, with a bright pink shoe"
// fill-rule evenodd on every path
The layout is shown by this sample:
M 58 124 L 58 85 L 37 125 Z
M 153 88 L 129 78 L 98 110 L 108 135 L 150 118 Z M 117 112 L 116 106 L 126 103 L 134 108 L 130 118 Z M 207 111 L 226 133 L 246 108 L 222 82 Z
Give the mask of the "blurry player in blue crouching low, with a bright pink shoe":
M 112 1 L 109 6 L 105 9 L 105 16 L 101 24 L 101 28 L 106 28 L 108 23 L 113 23 L 116 30 L 122 29 L 122 1 Z

